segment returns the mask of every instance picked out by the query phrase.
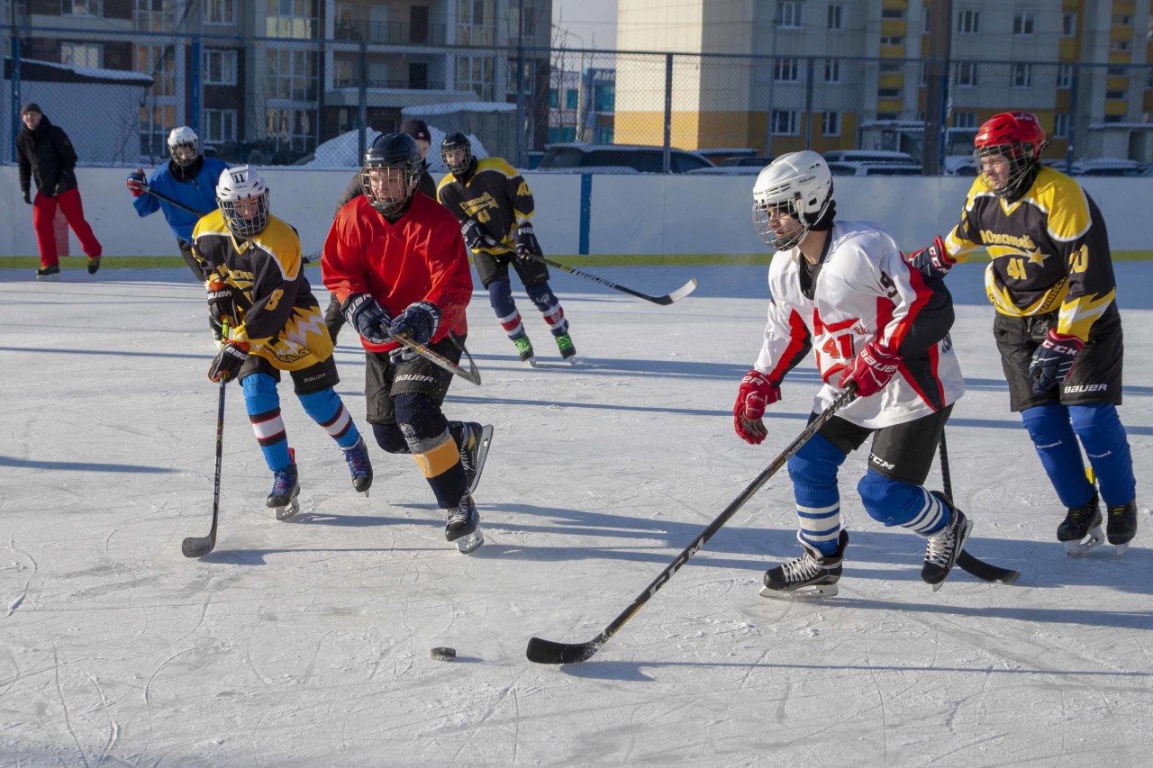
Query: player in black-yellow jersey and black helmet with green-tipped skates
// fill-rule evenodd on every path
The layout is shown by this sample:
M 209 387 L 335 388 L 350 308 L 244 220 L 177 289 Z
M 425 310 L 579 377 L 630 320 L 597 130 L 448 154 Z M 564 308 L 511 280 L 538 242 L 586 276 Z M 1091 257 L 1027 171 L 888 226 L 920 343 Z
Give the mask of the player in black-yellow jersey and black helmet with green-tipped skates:
M 444 137 L 440 159 L 449 175 L 440 180 L 437 194 L 461 224 L 489 302 L 517 346 L 517 354 L 533 364 L 533 344 L 512 298 L 510 263 L 525 284 L 525 293 L 544 316 L 560 356 L 572 361 L 576 347 L 560 300 L 549 287 L 549 268 L 528 258 L 532 254 L 543 255 L 530 220 L 534 205 L 528 183 L 500 158 L 477 160 L 468 137 L 460 133 Z

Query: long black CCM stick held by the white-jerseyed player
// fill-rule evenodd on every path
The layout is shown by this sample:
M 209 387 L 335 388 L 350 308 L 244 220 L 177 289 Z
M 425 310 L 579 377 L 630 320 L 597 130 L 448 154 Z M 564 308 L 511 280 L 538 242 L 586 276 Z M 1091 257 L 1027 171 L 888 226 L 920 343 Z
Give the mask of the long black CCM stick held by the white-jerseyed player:
M 769 481 L 769 477 L 775 475 L 781 469 L 781 467 L 785 466 L 789 459 L 791 459 L 793 454 L 796 454 L 797 451 L 799 451 L 801 446 L 805 445 L 805 443 L 807 443 L 809 439 L 812 439 L 814 435 L 816 435 L 817 430 L 820 430 L 821 427 L 824 426 L 824 422 L 827 422 L 832 416 L 832 414 L 835 414 L 837 411 L 841 409 L 842 406 L 844 406 L 845 404 L 847 404 L 850 400 L 853 399 L 856 392 L 857 392 L 857 386 L 856 384 L 852 384 L 847 389 L 845 389 L 844 392 L 837 396 L 837 399 L 834 400 L 831 404 L 829 404 L 828 408 L 822 411 L 815 419 L 813 419 L 813 421 L 808 423 L 805 430 L 800 435 L 798 435 L 792 443 L 789 444 L 789 447 L 782 451 L 777 455 L 777 458 L 773 460 L 773 464 L 766 467 L 764 470 L 761 472 L 761 474 L 759 474 L 756 479 L 752 483 L 749 483 L 747 488 L 745 488 L 744 491 L 741 491 L 740 496 L 734 498 L 732 503 L 730 503 L 729 506 L 725 507 L 724 512 L 722 512 L 713 522 L 710 522 L 709 527 L 706 528 L 693 541 L 692 544 L 686 547 L 685 550 L 680 555 L 678 555 L 677 558 L 668 567 L 665 567 L 665 570 L 662 571 L 661 574 L 656 579 L 654 579 L 649 586 L 645 587 L 645 592 L 638 595 L 636 600 L 634 600 L 632 604 L 628 608 L 626 608 L 620 616 L 615 618 L 612 623 L 609 624 L 609 626 L 606 626 L 604 631 L 601 632 L 601 634 L 596 635 L 588 642 L 553 642 L 552 640 L 542 640 L 541 638 L 533 638 L 528 641 L 528 650 L 526 652 L 528 661 L 537 664 L 572 664 L 574 662 L 582 662 L 591 658 L 593 654 L 600 650 L 601 646 L 608 642 L 609 638 L 616 634 L 617 631 L 620 627 L 623 627 L 625 623 L 628 619 L 631 619 L 633 615 L 636 611 L 639 611 L 641 607 L 645 605 L 645 603 L 647 603 L 653 595 L 656 594 L 657 589 L 663 587 L 665 582 L 668 582 L 669 579 L 672 578 L 672 574 L 679 571 L 680 566 L 687 563 L 688 558 L 695 555 L 701 549 L 701 547 L 703 547 L 706 542 L 708 542 L 708 540 L 711 539 L 713 535 L 721 529 L 721 526 L 728 522 L 729 519 L 737 513 L 737 510 L 744 506 L 745 503 L 748 502 L 748 499 L 751 499 L 754 494 L 756 494 L 756 491 L 761 490 L 761 487 L 763 487 L 764 483 Z

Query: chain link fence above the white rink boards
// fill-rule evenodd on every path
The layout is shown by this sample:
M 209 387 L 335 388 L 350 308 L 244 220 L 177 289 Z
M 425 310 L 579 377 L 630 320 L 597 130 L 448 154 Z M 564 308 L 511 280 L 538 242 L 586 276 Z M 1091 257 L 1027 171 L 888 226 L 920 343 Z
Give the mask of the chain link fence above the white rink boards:
M 168 131 L 188 125 L 229 163 L 352 168 L 378 131 L 420 118 L 434 148 L 460 130 L 482 157 L 542 171 L 755 173 L 813 149 L 836 173 L 971 175 L 978 126 L 1008 110 L 1040 118 L 1062 170 L 1153 163 L 1147 65 L 446 46 L 430 23 L 345 21 L 331 39 L 166 24 L 5 27 L 2 161 L 15 161 L 20 105 L 36 101 L 82 164 L 101 166 L 160 164 Z

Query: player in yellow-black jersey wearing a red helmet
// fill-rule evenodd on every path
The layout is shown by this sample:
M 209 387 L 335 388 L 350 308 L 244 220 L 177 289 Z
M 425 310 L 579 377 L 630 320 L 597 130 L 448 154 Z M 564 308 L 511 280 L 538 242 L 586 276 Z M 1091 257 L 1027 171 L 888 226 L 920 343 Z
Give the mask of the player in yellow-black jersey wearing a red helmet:
M 1137 532 L 1137 482 L 1116 409 L 1123 342 L 1109 238 L 1080 185 L 1041 165 L 1047 143 L 1028 112 L 1005 112 L 982 125 L 974 140 L 981 174 L 960 224 L 910 258 L 927 274 L 943 276 L 970 251 L 988 251 L 985 286 L 997 310 L 993 334 L 1010 408 L 1020 412 L 1069 507 L 1057 540 L 1071 555 L 1102 541 L 1083 446 L 1108 509 L 1109 543 L 1120 554 Z

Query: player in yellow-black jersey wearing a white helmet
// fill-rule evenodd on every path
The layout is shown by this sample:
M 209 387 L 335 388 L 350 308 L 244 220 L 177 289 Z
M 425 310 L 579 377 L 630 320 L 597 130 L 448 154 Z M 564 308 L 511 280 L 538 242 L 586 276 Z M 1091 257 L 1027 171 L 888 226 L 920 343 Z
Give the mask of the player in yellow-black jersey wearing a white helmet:
M 296 231 L 269 212 L 269 188 L 247 165 L 225 170 L 216 191 L 218 209 L 193 229 L 194 253 L 211 270 L 210 317 L 228 327 L 209 378 L 240 379 L 273 474 L 267 505 L 279 519 L 300 509 L 296 458 L 280 419 L 281 370 L 292 375 L 304 413 L 344 450 L 353 488 L 367 494 L 372 484 L 368 449 L 332 389 L 340 381 L 332 339 L 304 277 Z

